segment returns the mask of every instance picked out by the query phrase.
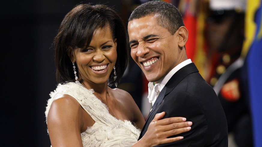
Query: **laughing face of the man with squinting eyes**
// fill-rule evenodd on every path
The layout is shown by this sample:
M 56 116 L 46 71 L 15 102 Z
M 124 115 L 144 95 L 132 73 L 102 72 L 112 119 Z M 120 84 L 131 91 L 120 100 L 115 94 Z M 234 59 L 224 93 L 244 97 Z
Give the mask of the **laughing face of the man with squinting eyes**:
M 155 16 L 133 19 L 128 23 L 131 57 L 148 81 L 158 83 L 179 64 L 178 33 L 170 34 L 157 24 Z

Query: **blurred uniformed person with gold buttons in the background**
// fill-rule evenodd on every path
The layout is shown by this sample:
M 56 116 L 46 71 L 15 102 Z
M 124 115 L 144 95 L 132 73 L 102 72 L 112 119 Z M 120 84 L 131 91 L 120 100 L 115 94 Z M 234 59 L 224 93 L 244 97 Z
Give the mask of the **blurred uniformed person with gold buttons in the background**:
M 252 147 L 252 122 L 241 57 L 246 0 L 210 0 L 205 41 L 207 81 L 227 117 L 228 132 L 239 147 Z

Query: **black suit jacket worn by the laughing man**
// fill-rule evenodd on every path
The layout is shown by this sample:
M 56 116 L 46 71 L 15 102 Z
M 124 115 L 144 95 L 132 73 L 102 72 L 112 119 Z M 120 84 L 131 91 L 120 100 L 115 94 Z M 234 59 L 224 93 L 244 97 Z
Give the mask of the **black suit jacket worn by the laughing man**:
M 227 147 L 227 120 L 214 90 L 199 74 L 194 63 L 179 69 L 159 93 L 140 137 L 146 133 L 155 114 L 164 118 L 181 116 L 193 122 L 191 130 L 176 136 L 184 139 L 158 146 Z

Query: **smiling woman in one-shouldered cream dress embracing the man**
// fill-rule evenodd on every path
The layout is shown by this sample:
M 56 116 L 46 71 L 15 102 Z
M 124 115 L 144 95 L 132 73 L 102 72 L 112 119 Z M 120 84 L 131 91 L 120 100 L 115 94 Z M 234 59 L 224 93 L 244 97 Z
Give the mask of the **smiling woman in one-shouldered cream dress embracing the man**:
M 161 113 L 137 141 L 145 123 L 139 108 L 128 92 L 108 86 L 127 66 L 126 34 L 119 15 L 104 5 L 77 5 L 63 19 L 53 42 L 58 86 L 45 112 L 53 147 L 155 146 L 190 130 L 185 118 L 160 120 Z

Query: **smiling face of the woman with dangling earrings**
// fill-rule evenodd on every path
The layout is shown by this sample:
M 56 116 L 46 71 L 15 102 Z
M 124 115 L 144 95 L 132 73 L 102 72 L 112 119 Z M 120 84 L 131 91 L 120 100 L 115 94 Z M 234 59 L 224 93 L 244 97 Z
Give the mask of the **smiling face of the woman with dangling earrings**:
M 91 89 L 92 84 L 104 84 L 113 71 L 117 58 L 117 43 L 109 25 L 98 28 L 85 49 L 68 50 L 71 62 L 76 62 L 82 84 Z

